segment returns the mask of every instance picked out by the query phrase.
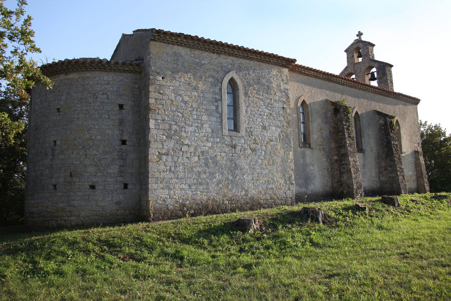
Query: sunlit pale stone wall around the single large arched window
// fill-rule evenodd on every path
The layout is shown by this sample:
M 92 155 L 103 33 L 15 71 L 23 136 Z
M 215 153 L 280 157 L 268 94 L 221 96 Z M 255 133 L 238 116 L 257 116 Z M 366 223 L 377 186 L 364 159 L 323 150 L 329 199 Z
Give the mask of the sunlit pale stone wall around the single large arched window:
M 293 204 L 286 68 L 150 43 L 150 219 Z M 243 136 L 222 133 L 221 83 L 242 83 Z

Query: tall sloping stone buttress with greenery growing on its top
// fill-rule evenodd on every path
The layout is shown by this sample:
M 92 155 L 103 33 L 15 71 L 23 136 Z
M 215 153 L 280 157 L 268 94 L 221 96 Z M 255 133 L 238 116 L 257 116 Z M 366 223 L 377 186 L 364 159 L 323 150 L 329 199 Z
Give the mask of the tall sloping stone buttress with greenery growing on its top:
M 333 194 L 337 198 L 363 197 L 362 178 L 353 136 L 353 120 L 346 105 L 328 100 Z

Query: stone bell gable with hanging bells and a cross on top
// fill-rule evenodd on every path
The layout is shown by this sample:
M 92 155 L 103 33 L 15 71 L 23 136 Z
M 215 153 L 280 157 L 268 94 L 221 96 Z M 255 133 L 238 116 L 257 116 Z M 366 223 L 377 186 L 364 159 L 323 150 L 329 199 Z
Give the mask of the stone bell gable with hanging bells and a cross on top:
M 355 39 L 348 48 L 346 48 L 347 66 L 341 71 L 340 76 L 351 78 L 355 76 L 355 80 L 370 84 L 370 81 L 377 80 L 377 86 L 393 91 L 393 76 L 391 67 L 393 65 L 377 61 L 374 59 L 373 47 L 371 42 L 363 41 L 362 35 L 356 35 Z

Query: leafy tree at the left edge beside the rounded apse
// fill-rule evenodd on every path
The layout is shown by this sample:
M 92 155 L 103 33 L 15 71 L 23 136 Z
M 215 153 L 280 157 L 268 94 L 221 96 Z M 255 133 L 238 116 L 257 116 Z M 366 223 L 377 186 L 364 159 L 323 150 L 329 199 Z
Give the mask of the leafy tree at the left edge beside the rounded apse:
M 24 17 L 26 5 L 17 0 L 10 10 L 0 0 L 0 225 L 23 212 L 30 91 L 38 83 L 52 86 L 27 57 L 41 50 L 33 41 L 32 18 Z

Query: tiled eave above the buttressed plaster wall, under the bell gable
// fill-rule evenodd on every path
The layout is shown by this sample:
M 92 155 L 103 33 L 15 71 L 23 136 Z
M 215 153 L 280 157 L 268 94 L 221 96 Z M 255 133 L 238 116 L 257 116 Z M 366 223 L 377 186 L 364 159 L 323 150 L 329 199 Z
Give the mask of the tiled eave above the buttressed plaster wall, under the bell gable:
M 402 93 L 398 93 L 398 92 L 390 91 L 387 89 L 371 86 L 368 84 L 364 84 L 364 83 L 349 79 L 347 77 L 343 77 L 343 76 L 339 76 L 336 74 L 316 70 L 316 69 L 309 68 L 309 67 L 302 66 L 302 65 L 294 64 L 290 67 L 289 70 L 291 72 L 305 75 L 308 77 L 313 77 L 313 78 L 328 81 L 331 83 L 339 84 L 341 86 L 346 86 L 346 87 L 366 91 L 369 93 L 390 97 L 392 99 L 400 100 L 400 101 L 407 102 L 410 104 L 417 105 L 420 102 L 420 100 L 416 97 L 412 97 L 412 96 L 405 95 Z

